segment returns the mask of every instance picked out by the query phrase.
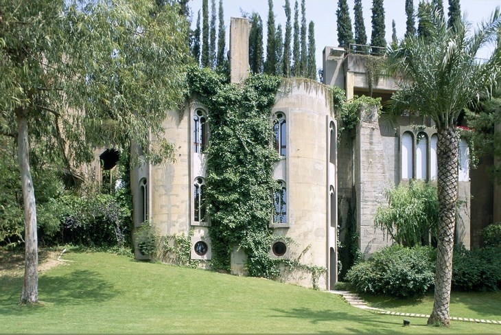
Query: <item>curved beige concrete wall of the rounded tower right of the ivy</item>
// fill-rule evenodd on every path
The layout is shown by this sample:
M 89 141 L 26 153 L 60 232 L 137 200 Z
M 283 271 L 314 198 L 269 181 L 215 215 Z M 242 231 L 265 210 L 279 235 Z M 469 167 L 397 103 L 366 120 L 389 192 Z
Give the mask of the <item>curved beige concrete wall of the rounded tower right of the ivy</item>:
M 287 154 L 283 159 L 286 161 L 288 222 L 287 227 L 275 228 L 275 233 L 295 241 L 290 245 L 291 258 L 301 255 L 299 260 L 302 264 L 325 268 L 330 267 L 329 234 L 334 233 L 327 224 L 329 148 L 325 139 L 329 133 L 328 120 L 334 121 L 330 102 L 330 93 L 322 84 L 290 80 L 277 93 L 273 109 L 286 115 L 288 127 Z M 332 186 L 336 189 L 336 185 Z M 337 214 L 334 215 L 336 217 Z M 330 238 L 335 248 L 335 239 Z M 328 276 L 321 276 L 318 282 L 323 290 L 329 287 Z M 284 279 L 312 286 L 309 273 L 296 271 L 287 274 Z

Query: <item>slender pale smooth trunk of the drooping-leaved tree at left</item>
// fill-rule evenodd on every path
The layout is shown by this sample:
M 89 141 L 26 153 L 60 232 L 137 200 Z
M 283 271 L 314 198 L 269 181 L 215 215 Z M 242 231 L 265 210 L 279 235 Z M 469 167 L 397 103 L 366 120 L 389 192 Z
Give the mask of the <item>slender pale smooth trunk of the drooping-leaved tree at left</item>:
M 32 172 L 28 123 L 23 111 L 17 113 L 17 157 L 21 171 L 25 215 L 25 273 L 20 303 L 38 303 L 38 239 L 36 236 L 36 205 Z

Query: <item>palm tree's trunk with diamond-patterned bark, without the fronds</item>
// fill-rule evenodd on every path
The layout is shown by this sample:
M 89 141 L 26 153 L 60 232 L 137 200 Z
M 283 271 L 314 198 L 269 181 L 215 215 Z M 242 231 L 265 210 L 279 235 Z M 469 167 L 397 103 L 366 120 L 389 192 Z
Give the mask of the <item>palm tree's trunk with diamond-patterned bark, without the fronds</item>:
M 458 195 L 458 139 L 454 126 L 438 130 L 439 227 L 436 254 L 433 312 L 428 325 L 450 325 L 449 303 L 452 281 L 452 251 Z

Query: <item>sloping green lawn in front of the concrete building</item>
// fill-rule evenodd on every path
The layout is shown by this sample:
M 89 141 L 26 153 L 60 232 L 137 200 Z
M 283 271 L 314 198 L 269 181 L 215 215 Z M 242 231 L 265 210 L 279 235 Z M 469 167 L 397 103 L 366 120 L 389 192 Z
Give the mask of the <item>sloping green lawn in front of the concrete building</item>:
M 62 258 L 73 262 L 40 275 L 38 305 L 18 305 L 22 277 L 0 277 L 0 332 L 501 332 L 501 325 L 466 322 L 428 327 L 420 318 L 406 318 L 411 325 L 402 327 L 401 316 L 374 314 L 353 308 L 336 294 L 266 279 L 137 262 L 109 253 L 70 252 Z M 492 308 L 500 310 L 499 300 Z M 482 304 L 475 309 L 480 310 Z

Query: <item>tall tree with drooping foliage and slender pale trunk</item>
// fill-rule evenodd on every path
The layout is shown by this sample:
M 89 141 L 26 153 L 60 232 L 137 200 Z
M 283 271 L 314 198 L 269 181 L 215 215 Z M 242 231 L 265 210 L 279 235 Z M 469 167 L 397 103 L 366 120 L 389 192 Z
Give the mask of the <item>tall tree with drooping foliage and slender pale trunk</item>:
M 36 303 L 30 143 L 45 143 L 68 174 L 96 146 L 123 151 L 134 141 L 153 161 L 172 158 L 161 137 L 152 155 L 145 135 L 160 135 L 167 109 L 183 100 L 188 24 L 178 5 L 150 0 L 0 0 L 0 8 L 0 134 L 17 143 L 25 217 L 20 301 Z

